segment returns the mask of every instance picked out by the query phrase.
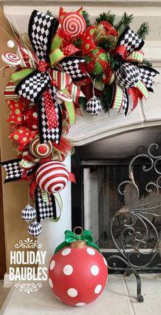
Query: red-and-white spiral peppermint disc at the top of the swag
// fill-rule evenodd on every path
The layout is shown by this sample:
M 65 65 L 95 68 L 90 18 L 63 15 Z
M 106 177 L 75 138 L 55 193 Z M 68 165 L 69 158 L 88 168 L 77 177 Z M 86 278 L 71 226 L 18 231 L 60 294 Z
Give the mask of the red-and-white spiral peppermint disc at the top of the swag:
M 85 31 L 85 19 L 78 12 L 68 12 L 62 20 L 61 28 L 73 37 L 78 36 Z

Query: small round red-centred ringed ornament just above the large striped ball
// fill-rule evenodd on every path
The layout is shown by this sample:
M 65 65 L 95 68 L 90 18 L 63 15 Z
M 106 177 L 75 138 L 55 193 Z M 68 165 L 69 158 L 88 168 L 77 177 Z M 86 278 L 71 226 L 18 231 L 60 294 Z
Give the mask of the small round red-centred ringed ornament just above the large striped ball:
M 53 145 L 51 141 L 40 143 L 39 137 L 36 137 L 31 141 L 29 150 L 31 154 L 38 157 L 39 159 L 45 159 L 49 156 L 53 150 Z

